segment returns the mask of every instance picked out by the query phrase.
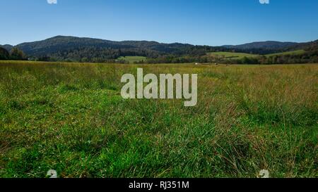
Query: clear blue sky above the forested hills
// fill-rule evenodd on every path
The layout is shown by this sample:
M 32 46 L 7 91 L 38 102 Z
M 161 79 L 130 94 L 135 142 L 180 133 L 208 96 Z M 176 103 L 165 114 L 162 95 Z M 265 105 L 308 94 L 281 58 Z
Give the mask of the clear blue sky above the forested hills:
M 0 26 L 0 44 L 13 45 L 56 35 L 211 46 L 312 41 L 318 1 L 1 0 Z

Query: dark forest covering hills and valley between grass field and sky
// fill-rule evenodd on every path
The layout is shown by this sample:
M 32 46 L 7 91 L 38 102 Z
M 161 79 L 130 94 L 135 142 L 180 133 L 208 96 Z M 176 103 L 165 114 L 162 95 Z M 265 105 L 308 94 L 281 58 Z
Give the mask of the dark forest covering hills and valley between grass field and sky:
M 301 54 L 281 54 L 302 49 Z M 216 58 L 211 52 L 256 54 L 244 58 Z M 93 63 L 126 63 L 123 56 L 143 56 L 136 63 L 228 63 L 287 64 L 318 63 L 318 40 L 307 43 L 264 41 L 238 46 L 194 46 L 191 44 L 161 44 L 156 41 L 108 41 L 102 39 L 57 36 L 43 41 L 5 45 L 0 48 L 0 60 L 40 60 Z

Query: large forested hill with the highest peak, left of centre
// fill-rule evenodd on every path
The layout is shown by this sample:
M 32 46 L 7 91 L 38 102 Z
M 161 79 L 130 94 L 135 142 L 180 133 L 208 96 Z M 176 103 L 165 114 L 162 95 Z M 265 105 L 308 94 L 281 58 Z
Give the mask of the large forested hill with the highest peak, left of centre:
M 43 41 L 18 44 L 30 57 L 116 59 L 119 56 L 202 55 L 207 51 L 227 51 L 224 47 L 194 46 L 190 44 L 162 44 L 156 41 L 109 41 L 103 39 L 57 36 Z

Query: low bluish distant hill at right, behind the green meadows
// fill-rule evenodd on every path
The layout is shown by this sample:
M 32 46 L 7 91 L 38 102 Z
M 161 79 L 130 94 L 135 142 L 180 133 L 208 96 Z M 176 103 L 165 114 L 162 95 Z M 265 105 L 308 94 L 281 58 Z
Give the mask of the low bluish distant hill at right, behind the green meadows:
M 265 49 L 265 50 L 282 50 L 288 49 L 293 46 L 297 46 L 298 43 L 295 42 L 280 42 L 280 41 L 259 41 L 253 42 L 249 44 L 241 44 L 241 45 L 225 45 L 224 47 L 228 49 Z

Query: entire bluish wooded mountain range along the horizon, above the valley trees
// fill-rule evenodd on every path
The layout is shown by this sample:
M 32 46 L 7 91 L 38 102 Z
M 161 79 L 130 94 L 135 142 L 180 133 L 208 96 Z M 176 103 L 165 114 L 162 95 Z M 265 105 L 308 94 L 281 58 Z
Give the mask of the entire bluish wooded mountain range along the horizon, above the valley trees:
M 1 46 L 1 45 L 0 45 Z M 10 51 L 13 46 L 3 45 Z M 299 49 L 316 49 L 317 41 L 305 43 L 259 41 L 241 45 L 195 46 L 192 44 L 164 44 L 157 41 L 110 41 L 87 37 L 56 36 L 42 41 L 33 41 L 16 45 L 28 58 L 54 58 L 54 60 L 114 60 L 120 56 L 204 56 L 208 52 L 230 51 L 254 54 L 279 53 Z

